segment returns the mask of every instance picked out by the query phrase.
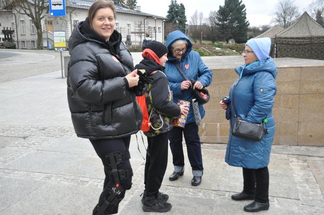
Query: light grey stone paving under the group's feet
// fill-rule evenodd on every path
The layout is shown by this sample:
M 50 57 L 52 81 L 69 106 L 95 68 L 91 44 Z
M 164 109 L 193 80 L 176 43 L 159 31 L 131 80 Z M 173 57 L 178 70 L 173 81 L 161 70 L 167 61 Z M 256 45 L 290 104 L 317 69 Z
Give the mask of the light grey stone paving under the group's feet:
M 0 82 L 0 215 L 90 215 L 98 201 L 104 179 L 101 160 L 87 139 L 76 137 L 66 79 L 59 77 L 56 71 Z M 133 186 L 119 215 L 155 214 L 141 208 L 145 149 L 137 136 L 130 146 Z M 225 147 L 202 145 L 204 175 L 198 187 L 190 184 L 186 155 L 184 176 L 168 180 L 173 171 L 169 151 L 161 192 L 170 195 L 173 207 L 165 215 L 248 214 L 243 206 L 249 201 L 230 199 L 242 190 L 243 178 L 241 168 L 224 162 Z M 258 214 L 323 215 L 323 166 L 324 147 L 273 146 L 270 209 Z

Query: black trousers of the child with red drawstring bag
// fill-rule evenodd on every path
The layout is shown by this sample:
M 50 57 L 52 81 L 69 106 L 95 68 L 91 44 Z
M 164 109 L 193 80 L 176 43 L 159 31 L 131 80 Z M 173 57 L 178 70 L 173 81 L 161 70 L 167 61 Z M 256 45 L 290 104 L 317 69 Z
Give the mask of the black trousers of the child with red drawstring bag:
M 147 137 L 147 153 L 144 172 L 146 195 L 155 195 L 162 184 L 168 162 L 168 132 Z

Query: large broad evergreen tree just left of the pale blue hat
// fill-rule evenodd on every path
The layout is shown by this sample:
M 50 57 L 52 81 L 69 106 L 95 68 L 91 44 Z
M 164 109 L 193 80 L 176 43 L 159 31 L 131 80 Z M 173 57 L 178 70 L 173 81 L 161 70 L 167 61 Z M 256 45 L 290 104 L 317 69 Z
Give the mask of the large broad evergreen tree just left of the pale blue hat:
M 242 0 L 225 0 L 217 12 L 219 37 L 238 43 L 246 42 L 249 22 L 246 20 L 246 9 Z

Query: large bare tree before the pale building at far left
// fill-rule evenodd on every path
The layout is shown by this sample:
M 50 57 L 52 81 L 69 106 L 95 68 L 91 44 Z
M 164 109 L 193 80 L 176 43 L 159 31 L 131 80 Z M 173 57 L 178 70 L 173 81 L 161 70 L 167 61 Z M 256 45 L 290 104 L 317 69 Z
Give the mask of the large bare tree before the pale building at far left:
M 48 13 L 48 0 L 5 0 L 6 7 L 15 10 L 18 14 L 28 16 L 37 31 L 37 48 L 43 48 L 43 33 L 41 20 Z

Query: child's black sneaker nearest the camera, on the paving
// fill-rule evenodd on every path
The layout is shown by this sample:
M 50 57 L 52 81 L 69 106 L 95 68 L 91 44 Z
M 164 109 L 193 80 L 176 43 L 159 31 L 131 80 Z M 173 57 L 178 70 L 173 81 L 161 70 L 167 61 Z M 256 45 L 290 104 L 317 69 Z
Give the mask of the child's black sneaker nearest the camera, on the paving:
M 144 212 L 168 212 L 172 208 L 172 205 L 168 202 L 162 202 L 159 195 L 144 196 L 144 202 L 142 209 Z

